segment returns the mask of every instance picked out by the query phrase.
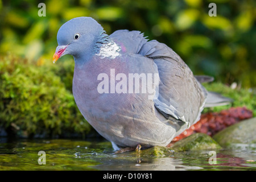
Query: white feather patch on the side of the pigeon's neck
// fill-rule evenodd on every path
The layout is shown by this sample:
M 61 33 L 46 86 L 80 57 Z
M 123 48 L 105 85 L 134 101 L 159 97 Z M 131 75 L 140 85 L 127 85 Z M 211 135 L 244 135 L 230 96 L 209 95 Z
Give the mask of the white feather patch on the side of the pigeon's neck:
M 96 53 L 97 56 L 100 56 L 101 59 L 105 57 L 109 57 L 110 59 L 115 59 L 115 57 L 119 56 L 119 51 L 121 48 L 111 40 L 108 44 L 102 44 L 100 47 L 100 52 Z

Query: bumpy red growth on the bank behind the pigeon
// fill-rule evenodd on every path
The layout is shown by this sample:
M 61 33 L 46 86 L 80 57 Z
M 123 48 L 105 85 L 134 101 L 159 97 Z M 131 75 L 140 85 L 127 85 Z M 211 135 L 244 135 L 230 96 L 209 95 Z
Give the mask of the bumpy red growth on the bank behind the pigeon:
M 253 112 L 246 109 L 246 107 L 231 107 L 228 110 L 222 110 L 220 113 L 205 113 L 201 115 L 200 120 L 195 125 L 175 137 L 172 143 L 194 133 L 205 133 L 212 137 L 218 131 L 251 117 L 253 117 Z

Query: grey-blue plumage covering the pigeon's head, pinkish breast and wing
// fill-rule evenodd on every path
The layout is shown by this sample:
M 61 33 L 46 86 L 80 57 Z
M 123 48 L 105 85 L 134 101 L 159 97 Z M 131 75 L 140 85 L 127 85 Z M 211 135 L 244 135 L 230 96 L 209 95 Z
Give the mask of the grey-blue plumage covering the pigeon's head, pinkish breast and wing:
M 80 38 L 75 40 L 77 33 Z M 139 31 L 118 30 L 108 36 L 94 19 L 80 17 L 65 23 L 57 40 L 53 59 L 65 54 L 75 59 L 73 94 L 79 110 L 113 146 L 166 146 L 200 119 L 208 95 L 214 97 L 200 84 L 210 78 L 195 78 L 171 48 L 148 41 Z M 147 82 L 158 97 L 150 100 L 150 93 L 141 92 L 99 93 L 97 86 L 102 80 L 98 76 L 105 73 L 111 77 L 110 69 L 115 75 L 158 74 L 159 81 Z

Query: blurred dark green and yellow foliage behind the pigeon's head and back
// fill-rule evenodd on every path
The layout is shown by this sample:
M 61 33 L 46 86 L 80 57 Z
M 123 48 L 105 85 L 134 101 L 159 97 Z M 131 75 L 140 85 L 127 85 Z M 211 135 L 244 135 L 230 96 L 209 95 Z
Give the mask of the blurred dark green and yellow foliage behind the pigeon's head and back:
M 46 16 L 38 16 L 38 4 Z M 217 16 L 209 16 L 209 3 Z M 196 75 L 256 86 L 256 2 L 253 0 L 0 0 L 0 52 L 51 61 L 60 26 L 92 16 L 108 34 L 128 29 L 166 43 Z M 64 59 L 63 59 L 64 60 Z

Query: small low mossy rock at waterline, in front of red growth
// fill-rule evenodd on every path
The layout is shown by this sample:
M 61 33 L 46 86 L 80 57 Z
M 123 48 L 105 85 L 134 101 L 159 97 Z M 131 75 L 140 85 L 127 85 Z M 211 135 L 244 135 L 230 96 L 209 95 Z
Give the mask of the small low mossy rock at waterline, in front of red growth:
M 192 134 L 176 142 L 171 148 L 177 151 L 195 151 L 195 150 L 209 150 L 220 149 L 221 146 L 214 141 L 209 135 L 203 133 Z

